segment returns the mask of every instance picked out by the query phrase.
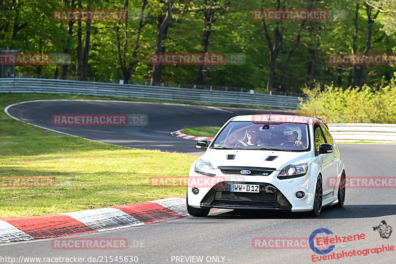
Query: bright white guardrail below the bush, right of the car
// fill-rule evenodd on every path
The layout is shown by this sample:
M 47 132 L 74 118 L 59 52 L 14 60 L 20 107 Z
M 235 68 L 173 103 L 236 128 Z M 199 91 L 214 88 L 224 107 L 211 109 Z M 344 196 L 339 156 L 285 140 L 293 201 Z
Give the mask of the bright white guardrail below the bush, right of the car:
M 396 124 L 328 124 L 337 141 L 396 142 Z

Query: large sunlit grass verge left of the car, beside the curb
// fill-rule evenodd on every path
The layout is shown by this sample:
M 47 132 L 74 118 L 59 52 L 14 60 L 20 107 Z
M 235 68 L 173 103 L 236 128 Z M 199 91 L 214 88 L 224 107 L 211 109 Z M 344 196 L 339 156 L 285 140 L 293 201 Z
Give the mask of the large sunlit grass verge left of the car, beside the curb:
M 0 94 L 3 109 L 40 99 L 117 99 L 77 95 Z M 186 176 L 196 157 L 126 149 L 58 136 L 0 112 L 0 177 L 53 176 L 52 188 L 1 188 L 0 218 L 97 209 L 185 195 L 151 188 L 150 176 Z M 0 182 L 1 183 L 1 182 Z M 0 185 L 4 186 L 4 185 Z

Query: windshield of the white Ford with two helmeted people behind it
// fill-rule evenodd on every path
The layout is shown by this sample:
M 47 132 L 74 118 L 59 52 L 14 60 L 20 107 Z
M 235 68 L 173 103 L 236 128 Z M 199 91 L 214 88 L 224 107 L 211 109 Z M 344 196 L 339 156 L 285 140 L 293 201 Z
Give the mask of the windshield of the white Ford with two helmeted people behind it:
M 211 148 L 304 151 L 308 145 L 306 124 L 232 121 L 214 139 Z

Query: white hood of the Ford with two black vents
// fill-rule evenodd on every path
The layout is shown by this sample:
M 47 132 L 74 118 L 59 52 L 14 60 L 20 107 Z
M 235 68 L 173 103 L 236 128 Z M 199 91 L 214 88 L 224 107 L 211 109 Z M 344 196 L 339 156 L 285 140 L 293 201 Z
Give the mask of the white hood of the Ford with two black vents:
M 234 159 L 227 159 L 228 155 L 235 155 Z M 277 158 L 265 160 L 268 156 Z M 219 166 L 266 167 L 281 170 L 290 164 L 300 164 L 311 160 L 308 152 L 266 151 L 266 150 L 219 150 L 208 149 L 200 159 L 210 161 L 214 168 Z

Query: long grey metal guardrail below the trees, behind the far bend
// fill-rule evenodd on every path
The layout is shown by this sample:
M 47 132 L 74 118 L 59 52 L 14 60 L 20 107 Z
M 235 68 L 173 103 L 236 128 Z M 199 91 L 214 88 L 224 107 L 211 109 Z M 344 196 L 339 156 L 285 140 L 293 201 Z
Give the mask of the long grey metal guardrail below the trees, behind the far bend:
M 33 78 L 1 78 L 0 93 L 115 96 L 293 109 L 299 104 L 298 97 L 293 96 Z

